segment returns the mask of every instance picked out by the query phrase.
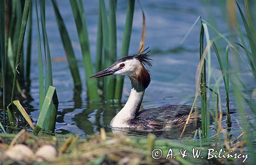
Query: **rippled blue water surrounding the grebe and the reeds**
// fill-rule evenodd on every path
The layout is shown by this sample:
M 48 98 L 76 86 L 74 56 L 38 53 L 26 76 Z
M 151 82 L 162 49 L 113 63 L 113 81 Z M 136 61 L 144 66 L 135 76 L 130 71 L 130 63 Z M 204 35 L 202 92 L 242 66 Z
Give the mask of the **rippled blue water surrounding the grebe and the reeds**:
M 123 27 L 126 15 L 126 1 L 117 1 L 117 43 L 118 55 L 120 54 Z M 158 107 L 168 104 L 188 104 L 191 105 L 195 95 L 195 75 L 199 62 L 199 23 L 191 31 L 183 44 L 180 41 L 187 33 L 190 26 L 199 15 L 208 19 L 203 1 L 193 1 L 187 3 L 185 0 L 175 1 L 142 1 L 143 10 L 146 16 L 146 38 L 145 46 L 150 46 L 153 67 L 150 69 L 152 81 L 146 89 L 143 108 Z M 83 89 L 81 96 L 74 95 L 73 81 L 60 40 L 55 15 L 51 1 L 46 3 L 46 25 L 50 43 L 53 68 L 53 85 L 56 87 L 59 99 L 59 109 L 57 114 L 57 133 L 75 133 L 83 136 L 98 132 L 101 127 L 107 131 L 112 117 L 121 109 L 129 97 L 130 81 L 125 78 L 123 97 L 121 104 L 94 103 L 88 104 L 86 85 L 84 79 L 83 63 L 80 45 L 76 32 L 75 22 L 69 1 L 58 1 L 59 10 L 65 20 L 73 48 L 78 60 Z M 108 6 L 108 4 L 106 4 Z M 91 44 L 91 54 L 95 59 L 98 2 L 84 1 L 84 9 L 87 15 L 87 26 Z M 227 32 L 225 20 L 220 18 L 222 14 L 220 8 L 212 6 L 215 12 L 218 28 L 222 33 Z M 29 111 L 34 124 L 39 115 L 39 90 L 38 90 L 38 62 L 37 62 L 37 34 L 36 17 L 33 13 L 33 49 L 32 49 L 32 73 L 31 73 L 31 97 L 33 101 L 25 101 L 25 107 Z M 142 14 L 136 2 L 133 33 L 131 38 L 129 54 L 138 51 L 138 45 L 142 31 Z M 212 54 L 212 68 L 216 77 L 220 77 L 221 72 L 216 57 Z M 252 75 L 245 73 L 249 89 L 255 85 Z M 214 82 L 214 80 L 211 80 Z M 220 84 L 222 105 L 225 106 L 225 91 L 223 83 Z M 197 104 L 200 106 L 200 104 Z M 235 109 L 232 96 L 230 108 Z M 223 108 L 225 109 L 225 108 Z M 247 108 L 248 109 L 248 108 Z M 239 130 L 236 122 L 237 114 L 232 114 L 234 134 Z M 223 122 L 224 123 L 224 122 Z M 22 127 L 22 125 L 20 125 Z M 225 126 L 225 123 L 224 123 Z

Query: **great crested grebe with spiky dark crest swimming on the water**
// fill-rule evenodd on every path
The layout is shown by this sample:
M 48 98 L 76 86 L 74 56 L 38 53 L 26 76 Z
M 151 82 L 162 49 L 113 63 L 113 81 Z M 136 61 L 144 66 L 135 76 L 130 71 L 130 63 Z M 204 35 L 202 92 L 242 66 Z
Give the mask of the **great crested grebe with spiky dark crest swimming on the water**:
M 191 106 L 169 105 L 139 111 L 145 89 L 151 80 L 145 66 L 151 67 L 152 59 L 149 58 L 149 51 L 144 53 L 146 50 L 133 56 L 125 56 L 117 60 L 110 67 L 90 77 L 100 78 L 110 75 L 127 75 L 131 80 L 132 89 L 130 97 L 124 107 L 112 119 L 110 126 L 143 130 L 182 128 L 186 123 Z M 188 128 L 201 126 L 199 111 L 199 108 L 194 108 L 189 119 Z

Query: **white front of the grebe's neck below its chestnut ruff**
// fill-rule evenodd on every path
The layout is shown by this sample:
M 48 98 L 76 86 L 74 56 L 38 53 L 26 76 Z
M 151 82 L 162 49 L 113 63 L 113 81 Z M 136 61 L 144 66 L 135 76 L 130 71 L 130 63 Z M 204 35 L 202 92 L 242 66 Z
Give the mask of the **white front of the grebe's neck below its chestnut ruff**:
M 111 127 L 130 127 L 131 120 L 136 117 L 136 113 L 140 109 L 144 91 L 144 89 L 137 90 L 134 87 L 131 89 L 130 97 L 124 107 L 112 119 Z

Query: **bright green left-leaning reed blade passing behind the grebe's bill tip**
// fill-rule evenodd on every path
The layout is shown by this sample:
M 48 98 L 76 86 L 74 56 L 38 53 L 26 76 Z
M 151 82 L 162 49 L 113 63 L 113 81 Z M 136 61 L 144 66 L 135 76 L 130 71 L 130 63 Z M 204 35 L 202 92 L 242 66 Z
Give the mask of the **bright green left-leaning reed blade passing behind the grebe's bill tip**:
M 90 76 L 93 75 L 93 64 L 90 55 L 90 45 L 89 45 L 89 36 L 87 32 L 86 25 L 86 16 L 82 7 L 82 2 L 70 0 L 70 5 L 72 8 L 73 16 L 76 23 L 77 34 L 80 42 L 80 47 L 82 51 L 83 65 L 86 71 L 86 81 L 87 81 L 87 90 L 90 100 L 99 100 L 97 80 L 90 79 Z

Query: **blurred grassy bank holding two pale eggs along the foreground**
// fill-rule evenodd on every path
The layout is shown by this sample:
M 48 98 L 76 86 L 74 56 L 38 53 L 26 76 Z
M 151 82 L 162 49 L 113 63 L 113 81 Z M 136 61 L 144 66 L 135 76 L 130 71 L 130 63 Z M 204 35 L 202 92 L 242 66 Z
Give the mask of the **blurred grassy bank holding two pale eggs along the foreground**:
M 25 129 L 0 137 L 1 164 L 236 164 L 248 162 L 249 157 L 248 153 L 241 153 L 245 143 L 238 139 L 215 148 L 206 147 L 199 139 L 188 138 L 177 143 L 156 138 L 154 134 L 136 137 L 106 133 L 103 128 L 99 134 L 86 138 L 44 132 L 35 136 Z

